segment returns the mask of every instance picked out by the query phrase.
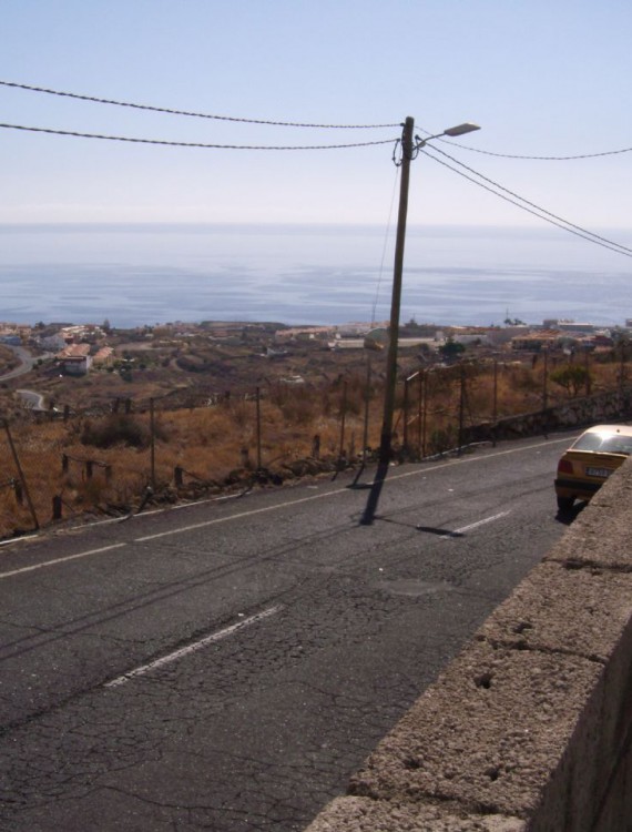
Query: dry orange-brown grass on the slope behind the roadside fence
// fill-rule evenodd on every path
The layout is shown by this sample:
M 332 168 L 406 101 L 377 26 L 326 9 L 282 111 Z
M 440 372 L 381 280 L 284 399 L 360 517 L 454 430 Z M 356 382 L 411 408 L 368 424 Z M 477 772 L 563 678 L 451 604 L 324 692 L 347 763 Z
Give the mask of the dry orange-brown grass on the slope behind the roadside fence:
M 592 393 L 616 389 L 620 372 L 615 363 L 595 364 L 591 373 Z M 422 447 L 427 454 L 453 447 L 459 415 L 466 425 L 473 425 L 489 422 L 495 415 L 502 418 L 538 410 L 542 406 L 543 386 L 541 363 L 534 367 L 497 365 L 496 374 L 492 365 L 465 365 L 427 373 L 425 397 L 419 398 L 424 387 L 417 382 L 409 387 L 408 444 L 414 451 L 419 453 Z M 567 398 L 565 390 L 548 384 L 549 405 Z M 166 409 L 165 402 L 162 409 L 161 402 L 156 402 L 153 423 L 145 410 L 78 416 L 65 423 L 37 422 L 22 416 L 0 429 L 0 537 L 32 529 L 33 511 L 40 526 L 48 524 L 53 497 L 61 498 L 64 517 L 129 510 L 142 499 L 147 485 L 154 485 L 165 498 L 175 499 L 176 467 L 182 469 L 190 489 L 205 484 L 212 490 L 246 481 L 257 468 L 259 453 L 262 467 L 282 473 L 288 463 L 312 455 L 316 436 L 320 457 L 332 461 L 340 453 L 354 459 L 363 450 L 366 377 L 361 374 L 320 387 L 271 387 L 259 402 L 258 427 L 257 403 L 252 398 L 235 397 L 215 406 L 181 409 Z M 374 378 L 367 440 L 371 448 L 379 445 L 381 402 L 383 381 Z M 402 407 L 400 386 L 395 446 L 404 438 Z M 20 503 L 14 484 L 22 478 L 28 490 Z

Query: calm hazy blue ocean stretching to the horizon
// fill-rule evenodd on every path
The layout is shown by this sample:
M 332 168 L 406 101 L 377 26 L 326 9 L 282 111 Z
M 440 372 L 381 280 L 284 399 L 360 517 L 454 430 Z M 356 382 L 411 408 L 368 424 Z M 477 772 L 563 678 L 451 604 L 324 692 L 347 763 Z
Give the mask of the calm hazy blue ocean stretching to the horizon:
M 385 321 L 394 247 L 359 225 L 0 225 L 0 321 Z M 507 317 L 623 325 L 632 258 L 549 227 L 407 230 L 402 322 Z

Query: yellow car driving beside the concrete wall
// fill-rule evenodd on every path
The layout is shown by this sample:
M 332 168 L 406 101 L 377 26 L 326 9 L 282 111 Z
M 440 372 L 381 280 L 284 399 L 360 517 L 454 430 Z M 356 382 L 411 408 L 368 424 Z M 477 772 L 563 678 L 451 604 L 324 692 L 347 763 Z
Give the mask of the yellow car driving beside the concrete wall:
M 589 500 L 630 454 L 632 427 L 595 425 L 584 430 L 558 463 L 555 495 L 560 511 L 570 511 L 575 499 Z

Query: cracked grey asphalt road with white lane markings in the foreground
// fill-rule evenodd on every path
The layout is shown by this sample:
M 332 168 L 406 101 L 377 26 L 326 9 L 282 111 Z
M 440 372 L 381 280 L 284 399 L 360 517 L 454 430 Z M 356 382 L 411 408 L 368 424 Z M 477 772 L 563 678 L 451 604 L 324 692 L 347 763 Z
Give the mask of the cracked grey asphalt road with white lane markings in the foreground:
M 304 829 L 563 534 L 567 437 L 393 468 L 370 526 L 339 477 L 1 547 L 0 829 Z

